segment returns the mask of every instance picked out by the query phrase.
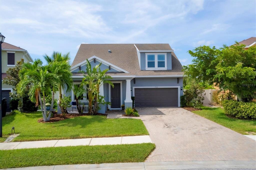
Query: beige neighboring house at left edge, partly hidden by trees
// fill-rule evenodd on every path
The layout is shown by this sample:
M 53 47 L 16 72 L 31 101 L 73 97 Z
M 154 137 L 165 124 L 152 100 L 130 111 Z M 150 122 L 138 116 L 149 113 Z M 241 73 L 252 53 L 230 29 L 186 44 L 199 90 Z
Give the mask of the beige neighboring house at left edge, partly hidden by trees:
M 9 68 L 15 67 L 17 61 L 24 59 L 24 62 L 32 62 L 32 58 L 27 50 L 15 45 L 4 42 L 2 44 L 2 81 L 6 77 L 6 71 Z M 9 92 L 13 92 L 13 86 L 2 83 L 2 97 L 7 99 L 7 112 L 10 112 Z

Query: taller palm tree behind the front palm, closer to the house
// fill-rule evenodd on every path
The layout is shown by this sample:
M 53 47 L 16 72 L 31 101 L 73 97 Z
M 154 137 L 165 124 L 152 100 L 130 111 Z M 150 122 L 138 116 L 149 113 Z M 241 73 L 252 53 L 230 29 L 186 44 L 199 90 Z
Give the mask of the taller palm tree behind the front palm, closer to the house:
M 58 89 L 52 89 L 52 103 L 51 103 L 51 110 L 53 107 L 53 102 L 54 102 L 54 93 L 56 91 L 59 91 L 60 95 L 59 95 L 59 102 L 62 101 L 62 92 L 61 89 L 67 88 L 67 92 L 70 91 L 72 89 L 72 84 L 73 84 L 73 80 L 72 80 L 72 73 L 71 73 L 71 66 L 70 66 L 70 57 L 69 57 L 69 53 L 62 55 L 59 52 L 53 52 L 52 56 L 49 57 L 48 55 L 44 56 L 46 62 L 48 63 L 48 65 L 52 65 L 51 67 L 49 67 L 51 70 L 49 70 L 50 72 L 58 75 L 59 77 L 59 87 Z M 61 107 L 62 104 L 59 104 L 61 112 L 63 114 L 65 114 L 66 108 Z

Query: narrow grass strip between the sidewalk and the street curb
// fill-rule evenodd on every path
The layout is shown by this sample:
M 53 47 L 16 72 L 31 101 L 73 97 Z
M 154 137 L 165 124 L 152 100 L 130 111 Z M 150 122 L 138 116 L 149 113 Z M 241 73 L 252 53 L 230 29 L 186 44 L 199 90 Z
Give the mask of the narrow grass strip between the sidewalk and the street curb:
M 155 144 L 51 147 L 0 151 L 0 169 L 67 164 L 143 162 Z

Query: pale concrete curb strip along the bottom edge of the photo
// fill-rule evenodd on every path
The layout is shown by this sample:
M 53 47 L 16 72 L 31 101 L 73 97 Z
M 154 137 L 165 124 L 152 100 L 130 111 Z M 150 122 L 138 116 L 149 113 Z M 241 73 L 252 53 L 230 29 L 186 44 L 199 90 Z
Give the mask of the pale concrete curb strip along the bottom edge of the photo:
M 138 163 L 104 163 L 104 164 L 76 164 L 76 165 L 52 165 L 34 166 L 24 168 L 10 168 L 10 170 L 77 170 L 77 169 L 208 169 L 208 168 L 251 168 L 255 169 L 255 161 L 174 161 L 174 162 L 138 162 Z

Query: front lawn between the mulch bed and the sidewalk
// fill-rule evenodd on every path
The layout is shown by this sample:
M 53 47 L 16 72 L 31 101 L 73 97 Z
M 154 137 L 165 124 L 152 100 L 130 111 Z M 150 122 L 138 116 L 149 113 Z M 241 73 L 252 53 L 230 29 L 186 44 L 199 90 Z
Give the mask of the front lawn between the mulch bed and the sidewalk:
M 106 119 L 106 116 L 79 116 L 54 123 L 38 123 L 41 112 L 6 115 L 3 118 L 3 142 L 15 127 L 20 133 L 13 142 L 91 137 L 148 135 L 140 119 Z

